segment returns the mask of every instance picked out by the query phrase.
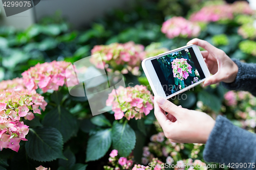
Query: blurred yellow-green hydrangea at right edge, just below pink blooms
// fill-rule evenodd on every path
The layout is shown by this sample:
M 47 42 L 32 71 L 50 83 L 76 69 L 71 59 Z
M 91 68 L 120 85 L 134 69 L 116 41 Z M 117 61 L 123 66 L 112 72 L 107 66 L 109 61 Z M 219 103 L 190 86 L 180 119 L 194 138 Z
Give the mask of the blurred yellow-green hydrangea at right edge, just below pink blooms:
M 253 39 L 256 37 L 256 28 L 254 28 L 252 23 L 245 24 L 238 29 L 238 34 L 244 39 Z

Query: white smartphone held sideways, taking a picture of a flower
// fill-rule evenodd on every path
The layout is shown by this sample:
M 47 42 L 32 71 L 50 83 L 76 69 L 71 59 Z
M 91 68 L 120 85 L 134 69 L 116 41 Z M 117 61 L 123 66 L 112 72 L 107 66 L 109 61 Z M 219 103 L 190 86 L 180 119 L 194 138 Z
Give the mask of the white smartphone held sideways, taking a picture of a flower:
M 154 92 L 165 99 L 184 92 L 210 77 L 197 45 L 186 45 L 142 61 L 142 68 Z

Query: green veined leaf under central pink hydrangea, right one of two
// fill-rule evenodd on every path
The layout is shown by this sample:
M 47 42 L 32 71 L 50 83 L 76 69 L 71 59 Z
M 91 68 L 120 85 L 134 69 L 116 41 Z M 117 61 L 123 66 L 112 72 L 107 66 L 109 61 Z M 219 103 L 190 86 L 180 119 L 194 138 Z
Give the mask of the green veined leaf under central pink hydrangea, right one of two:
M 121 157 L 127 157 L 136 143 L 134 130 L 126 123 L 116 123 L 112 128 L 113 148 L 118 150 Z

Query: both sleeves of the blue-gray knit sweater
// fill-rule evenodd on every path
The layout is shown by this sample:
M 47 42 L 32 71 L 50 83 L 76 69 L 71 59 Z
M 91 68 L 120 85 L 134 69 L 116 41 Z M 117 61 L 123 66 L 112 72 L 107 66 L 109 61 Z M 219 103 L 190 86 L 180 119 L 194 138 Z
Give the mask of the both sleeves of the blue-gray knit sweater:
M 238 65 L 238 75 L 233 83 L 223 83 L 224 87 L 230 90 L 245 90 L 256 95 L 256 64 L 233 61 Z M 236 127 L 227 118 L 218 116 L 206 142 L 203 156 L 207 162 L 225 165 L 230 163 L 230 166 L 234 163 L 235 169 L 256 169 L 256 134 Z M 243 167 L 237 168 L 236 163 L 243 163 Z

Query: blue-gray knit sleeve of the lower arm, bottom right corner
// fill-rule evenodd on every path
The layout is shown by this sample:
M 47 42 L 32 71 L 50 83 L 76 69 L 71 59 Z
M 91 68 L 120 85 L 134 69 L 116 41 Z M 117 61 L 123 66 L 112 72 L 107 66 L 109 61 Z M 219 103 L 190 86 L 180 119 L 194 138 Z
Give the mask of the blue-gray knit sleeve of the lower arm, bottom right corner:
M 256 169 L 256 134 L 234 126 L 227 118 L 218 116 L 214 129 L 205 144 L 204 160 L 228 165 L 247 163 L 246 168 Z M 253 163 L 248 168 L 249 164 Z

